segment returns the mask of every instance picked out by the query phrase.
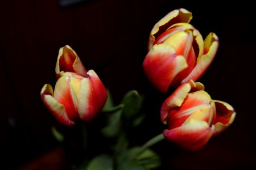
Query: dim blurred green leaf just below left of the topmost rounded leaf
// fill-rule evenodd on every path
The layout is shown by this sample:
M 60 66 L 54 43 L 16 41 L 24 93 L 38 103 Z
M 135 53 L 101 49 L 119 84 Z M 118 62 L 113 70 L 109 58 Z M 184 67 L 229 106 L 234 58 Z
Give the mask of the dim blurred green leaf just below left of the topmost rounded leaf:
M 109 114 L 107 125 L 101 129 L 101 133 L 105 137 L 116 137 L 121 130 L 121 114 L 122 109 Z

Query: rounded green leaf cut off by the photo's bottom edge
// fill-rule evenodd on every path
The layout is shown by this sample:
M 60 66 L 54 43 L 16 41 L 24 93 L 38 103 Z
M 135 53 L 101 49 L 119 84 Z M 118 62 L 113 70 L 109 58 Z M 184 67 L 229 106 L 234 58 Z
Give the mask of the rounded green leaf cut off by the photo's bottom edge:
M 113 170 L 113 159 L 107 154 L 98 155 L 93 158 L 85 170 Z

